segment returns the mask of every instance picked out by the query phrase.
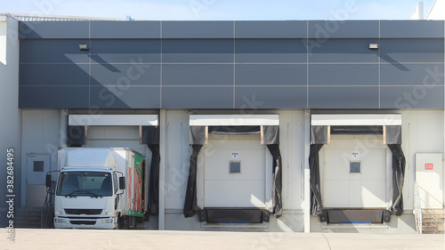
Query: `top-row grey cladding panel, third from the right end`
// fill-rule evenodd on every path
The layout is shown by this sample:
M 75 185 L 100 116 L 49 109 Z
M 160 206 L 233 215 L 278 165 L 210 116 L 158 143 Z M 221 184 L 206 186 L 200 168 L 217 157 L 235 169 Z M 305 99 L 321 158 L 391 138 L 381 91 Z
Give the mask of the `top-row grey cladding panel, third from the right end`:
M 235 21 L 235 38 L 305 38 L 305 20 Z

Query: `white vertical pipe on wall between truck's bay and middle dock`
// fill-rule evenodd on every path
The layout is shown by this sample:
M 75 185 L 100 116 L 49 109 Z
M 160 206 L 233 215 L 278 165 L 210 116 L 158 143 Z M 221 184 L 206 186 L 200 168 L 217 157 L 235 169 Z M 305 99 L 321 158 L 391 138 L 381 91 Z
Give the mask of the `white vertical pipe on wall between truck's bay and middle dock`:
M 159 214 L 158 230 L 166 230 L 166 109 L 159 110 Z

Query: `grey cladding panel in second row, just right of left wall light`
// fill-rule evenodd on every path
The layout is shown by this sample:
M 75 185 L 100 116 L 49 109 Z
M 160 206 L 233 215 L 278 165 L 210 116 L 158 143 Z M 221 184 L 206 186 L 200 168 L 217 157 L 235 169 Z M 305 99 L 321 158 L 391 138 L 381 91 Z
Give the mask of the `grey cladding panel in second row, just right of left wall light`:
M 147 63 L 161 61 L 160 40 L 92 40 L 92 62 Z

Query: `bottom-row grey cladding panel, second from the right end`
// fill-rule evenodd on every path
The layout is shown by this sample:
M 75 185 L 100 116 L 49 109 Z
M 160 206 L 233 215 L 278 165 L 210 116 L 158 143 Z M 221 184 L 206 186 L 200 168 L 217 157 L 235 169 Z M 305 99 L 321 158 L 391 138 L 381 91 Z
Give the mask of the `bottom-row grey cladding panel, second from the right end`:
M 309 109 L 378 109 L 378 86 L 310 86 Z

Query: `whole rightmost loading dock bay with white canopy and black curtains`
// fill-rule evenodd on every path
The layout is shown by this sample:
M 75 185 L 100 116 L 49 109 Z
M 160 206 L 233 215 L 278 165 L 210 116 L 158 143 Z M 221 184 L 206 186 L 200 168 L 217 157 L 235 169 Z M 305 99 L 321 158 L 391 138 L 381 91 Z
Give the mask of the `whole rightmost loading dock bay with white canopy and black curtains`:
M 401 115 L 312 115 L 309 163 L 320 222 L 383 223 L 403 213 Z

